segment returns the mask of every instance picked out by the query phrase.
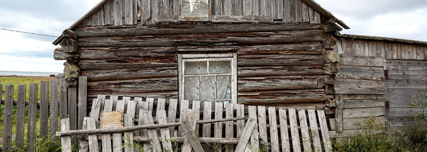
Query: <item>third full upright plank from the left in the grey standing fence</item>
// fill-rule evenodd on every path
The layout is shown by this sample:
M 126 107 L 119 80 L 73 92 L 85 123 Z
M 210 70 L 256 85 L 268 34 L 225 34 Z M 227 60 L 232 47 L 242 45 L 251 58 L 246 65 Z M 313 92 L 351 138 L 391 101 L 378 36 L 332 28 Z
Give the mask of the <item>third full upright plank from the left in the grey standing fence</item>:
M 37 84 L 29 84 L 29 103 L 28 103 L 28 127 L 27 127 L 27 151 L 35 151 L 33 145 L 36 144 L 36 126 L 37 126 Z M 1 91 L 0 91 L 1 92 Z

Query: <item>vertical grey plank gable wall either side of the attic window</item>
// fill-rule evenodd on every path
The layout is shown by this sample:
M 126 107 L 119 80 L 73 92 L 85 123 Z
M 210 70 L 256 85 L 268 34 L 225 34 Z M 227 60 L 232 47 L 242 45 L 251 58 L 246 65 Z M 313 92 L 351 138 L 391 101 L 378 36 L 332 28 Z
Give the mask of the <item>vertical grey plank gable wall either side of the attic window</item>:
M 179 9 L 178 0 L 107 0 L 80 26 L 178 22 Z M 321 23 L 320 14 L 300 0 L 211 0 L 210 9 L 210 22 Z

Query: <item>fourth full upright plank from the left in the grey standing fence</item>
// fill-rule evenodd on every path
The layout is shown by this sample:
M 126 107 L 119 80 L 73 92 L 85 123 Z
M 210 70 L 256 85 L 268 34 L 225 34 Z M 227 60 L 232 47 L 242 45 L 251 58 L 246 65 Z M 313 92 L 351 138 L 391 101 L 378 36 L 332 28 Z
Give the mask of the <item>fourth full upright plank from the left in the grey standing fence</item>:
M 48 105 L 49 105 L 49 82 L 40 82 L 40 137 L 47 137 L 48 133 Z M 72 118 L 72 117 L 71 117 Z M 71 123 L 73 124 L 73 123 Z M 73 128 L 72 130 L 77 128 Z

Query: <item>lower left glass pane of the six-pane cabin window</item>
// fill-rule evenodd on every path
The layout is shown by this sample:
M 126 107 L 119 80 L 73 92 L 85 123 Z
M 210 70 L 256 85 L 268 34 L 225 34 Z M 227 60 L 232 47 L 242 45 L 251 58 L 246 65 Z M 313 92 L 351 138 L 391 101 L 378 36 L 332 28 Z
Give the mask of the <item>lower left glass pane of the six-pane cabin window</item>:
M 184 99 L 185 100 L 200 100 L 199 77 L 186 77 L 185 78 Z

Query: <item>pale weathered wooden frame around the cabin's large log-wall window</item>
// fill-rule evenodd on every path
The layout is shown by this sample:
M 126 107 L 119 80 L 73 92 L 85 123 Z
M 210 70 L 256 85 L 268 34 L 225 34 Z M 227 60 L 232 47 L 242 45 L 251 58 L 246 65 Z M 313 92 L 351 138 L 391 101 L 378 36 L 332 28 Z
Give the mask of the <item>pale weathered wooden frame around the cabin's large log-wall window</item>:
M 231 103 L 237 104 L 237 53 L 227 54 L 178 54 L 178 97 L 179 101 L 184 100 L 185 95 L 185 64 L 184 61 L 198 61 L 198 60 L 209 60 L 209 61 L 221 61 L 224 58 L 231 60 Z M 207 67 L 209 68 L 209 67 Z M 215 90 L 216 91 L 216 90 Z M 208 102 L 208 101 L 206 101 Z M 217 101 L 223 102 L 223 101 Z

